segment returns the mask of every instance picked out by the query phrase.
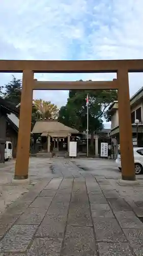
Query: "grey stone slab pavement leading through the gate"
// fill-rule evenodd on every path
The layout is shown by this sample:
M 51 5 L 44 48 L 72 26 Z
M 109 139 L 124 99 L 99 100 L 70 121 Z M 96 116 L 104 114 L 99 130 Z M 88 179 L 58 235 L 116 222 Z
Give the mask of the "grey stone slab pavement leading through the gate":
M 51 167 L 1 215 L 0 256 L 143 255 L 142 185 L 121 187 L 69 160 Z

